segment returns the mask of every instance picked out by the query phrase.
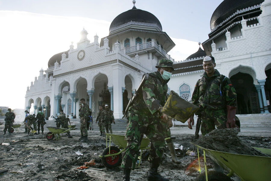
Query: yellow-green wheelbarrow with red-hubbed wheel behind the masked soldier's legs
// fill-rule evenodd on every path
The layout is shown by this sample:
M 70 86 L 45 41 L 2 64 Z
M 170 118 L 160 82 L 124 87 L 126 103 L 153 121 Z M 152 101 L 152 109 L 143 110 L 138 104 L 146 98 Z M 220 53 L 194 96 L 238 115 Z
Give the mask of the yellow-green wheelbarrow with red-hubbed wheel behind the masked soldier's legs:
M 106 148 L 104 149 L 103 153 L 99 155 L 101 158 L 102 164 L 104 167 L 107 168 L 114 168 L 121 164 L 122 156 L 121 153 L 125 150 L 127 146 L 127 140 L 125 140 L 124 135 L 114 135 L 114 134 L 106 134 Z M 107 138 L 109 137 L 109 146 L 107 147 Z M 111 141 L 117 146 L 111 146 Z M 150 140 L 148 138 L 143 138 L 141 141 L 141 145 L 139 147 L 140 150 L 150 149 L 148 147 Z M 139 156 L 139 164 L 141 161 L 142 151 Z

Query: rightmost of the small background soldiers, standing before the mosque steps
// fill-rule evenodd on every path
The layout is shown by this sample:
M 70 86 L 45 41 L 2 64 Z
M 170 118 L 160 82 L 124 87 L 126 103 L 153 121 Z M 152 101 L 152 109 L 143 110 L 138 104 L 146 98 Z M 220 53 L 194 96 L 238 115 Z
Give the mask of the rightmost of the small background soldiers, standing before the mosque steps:
M 111 109 L 109 109 L 108 104 L 104 105 L 104 110 L 101 114 L 101 123 L 104 124 L 106 133 L 108 133 L 108 130 L 110 131 L 110 133 L 112 134 L 112 127 L 111 127 L 111 123 L 113 122 L 115 124 L 115 119 L 114 119 L 114 115 Z

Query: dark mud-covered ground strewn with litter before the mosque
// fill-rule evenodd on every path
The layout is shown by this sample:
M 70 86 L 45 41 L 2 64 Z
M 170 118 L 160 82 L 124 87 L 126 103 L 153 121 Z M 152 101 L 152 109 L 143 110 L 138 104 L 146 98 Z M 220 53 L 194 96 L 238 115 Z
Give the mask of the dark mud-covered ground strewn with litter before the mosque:
M 45 131 L 47 132 L 47 130 Z M 193 181 L 199 174 L 198 157 L 188 156 L 186 150 L 193 149 L 190 144 L 194 135 L 173 133 L 176 136 L 174 144 L 183 146 L 183 150 L 177 149 L 177 155 L 181 159 L 181 164 L 171 161 L 170 151 L 165 148 L 165 158 L 162 160 L 158 172 L 170 181 Z M 108 169 L 103 166 L 99 155 L 106 148 L 106 138 L 99 136 L 98 131 L 89 132 L 89 142 L 79 142 L 80 132 L 71 131 L 73 138 L 68 138 L 63 134 L 60 140 L 48 141 L 45 135 L 27 136 L 26 133 L 14 132 L 12 135 L 3 135 L 0 131 L 0 180 L 83 180 L 83 181 L 120 181 L 123 176 L 123 169 L 118 166 Z M 124 135 L 124 131 L 114 132 L 114 134 Z M 240 136 L 241 140 L 253 147 L 271 148 L 270 137 Z M 2 145 L 9 143 L 10 145 Z M 177 145 L 176 145 L 177 146 Z M 79 151 L 83 155 L 77 155 Z M 145 181 L 149 162 L 148 154 L 142 159 L 139 169 L 131 172 L 131 181 Z M 201 156 L 201 169 L 204 170 L 203 157 Z M 95 159 L 95 165 L 86 170 L 78 170 L 85 162 Z M 3 168 L 4 167 L 4 168 Z M 212 161 L 207 157 L 207 168 L 213 170 Z M 227 173 L 225 171 L 225 173 Z M 232 180 L 237 180 L 232 177 Z

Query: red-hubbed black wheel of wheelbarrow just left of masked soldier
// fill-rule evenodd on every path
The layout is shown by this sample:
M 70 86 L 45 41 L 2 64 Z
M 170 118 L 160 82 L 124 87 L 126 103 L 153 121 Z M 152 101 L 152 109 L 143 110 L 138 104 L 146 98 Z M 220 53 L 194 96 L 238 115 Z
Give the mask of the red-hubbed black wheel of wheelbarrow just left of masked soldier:
M 114 154 L 120 152 L 120 149 L 117 148 L 116 146 L 111 146 L 110 147 L 110 153 L 109 153 L 109 147 L 105 148 L 102 155 L 108 155 L 108 154 Z M 114 168 L 120 165 L 122 157 L 121 154 L 111 156 L 111 157 L 105 157 L 101 158 L 102 163 L 104 167 L 107 168 Z

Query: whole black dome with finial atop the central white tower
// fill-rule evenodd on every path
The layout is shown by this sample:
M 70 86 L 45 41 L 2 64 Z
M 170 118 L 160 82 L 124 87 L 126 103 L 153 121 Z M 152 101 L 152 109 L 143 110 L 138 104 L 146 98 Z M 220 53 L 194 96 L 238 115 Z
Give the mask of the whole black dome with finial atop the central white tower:
M 162 31 L 162 25 L 157 17 L 148 11 L 137 9 L 134 6 L 132 9 L 115 17 L 110 25 L 109 32 L 117 30 L 121 27 L 126 27 L 130 24 L 157 27 L 160 31 Z

